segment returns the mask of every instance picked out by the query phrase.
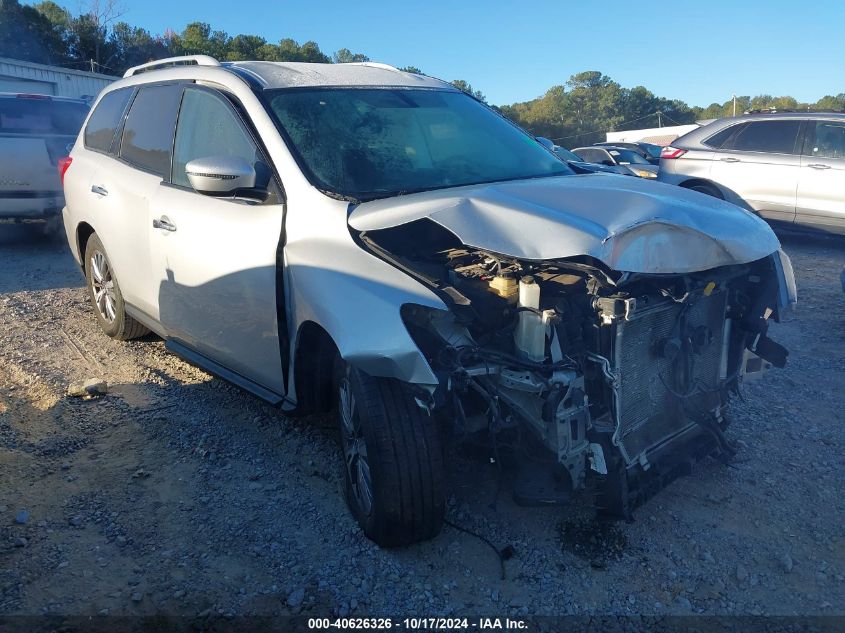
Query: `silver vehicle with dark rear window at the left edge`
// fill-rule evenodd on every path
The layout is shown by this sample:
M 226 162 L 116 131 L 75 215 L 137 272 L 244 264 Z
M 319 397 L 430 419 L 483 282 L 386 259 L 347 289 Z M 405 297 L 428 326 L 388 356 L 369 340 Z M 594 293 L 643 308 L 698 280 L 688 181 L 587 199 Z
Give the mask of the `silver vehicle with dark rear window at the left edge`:
M 0 219 L 58 216 L 58 162 L 88 114 L 84 101 L 0 93 Z

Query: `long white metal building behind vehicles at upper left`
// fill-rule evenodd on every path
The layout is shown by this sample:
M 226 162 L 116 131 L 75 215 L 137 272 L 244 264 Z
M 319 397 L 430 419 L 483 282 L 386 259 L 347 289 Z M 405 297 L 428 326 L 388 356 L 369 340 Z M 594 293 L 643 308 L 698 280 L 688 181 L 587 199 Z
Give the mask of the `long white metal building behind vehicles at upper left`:
M 0 57 L 0 92 L 93 99 L 119 77 Z

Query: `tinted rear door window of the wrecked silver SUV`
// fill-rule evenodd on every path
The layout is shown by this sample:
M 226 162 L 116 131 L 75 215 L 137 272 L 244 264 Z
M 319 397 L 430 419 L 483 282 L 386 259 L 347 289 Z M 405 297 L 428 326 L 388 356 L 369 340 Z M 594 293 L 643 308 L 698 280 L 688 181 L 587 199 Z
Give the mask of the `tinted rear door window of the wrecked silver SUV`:
M 170 174 L 170 148 L 176 128 L 176 114 L 182 87 L 147 86 L 129 108 L 120 157 L 143 169 L 167 176 Z

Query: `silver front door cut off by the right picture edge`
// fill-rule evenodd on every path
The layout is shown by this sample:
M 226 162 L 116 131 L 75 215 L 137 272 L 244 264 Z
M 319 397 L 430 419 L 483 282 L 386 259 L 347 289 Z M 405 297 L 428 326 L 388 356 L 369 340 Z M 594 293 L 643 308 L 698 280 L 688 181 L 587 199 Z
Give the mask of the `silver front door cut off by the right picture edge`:
M 845 120 L 807 123 L 795 221 L 845 233 Z

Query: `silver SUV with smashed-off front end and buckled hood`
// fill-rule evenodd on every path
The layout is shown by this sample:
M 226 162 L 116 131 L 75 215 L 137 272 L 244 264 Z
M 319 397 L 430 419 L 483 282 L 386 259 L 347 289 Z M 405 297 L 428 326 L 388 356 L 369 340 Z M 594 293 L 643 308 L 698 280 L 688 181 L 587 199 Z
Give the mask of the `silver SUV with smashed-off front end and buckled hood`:
M 103 330 L 295 413 L 336 411 L 346 497 L 385 546 L 444 515 L 444 446 L 510 451 L 524 503 L 625 516 L 786 350 L 759 218 L 574 175 L 447 83 L 380 64 L 164 60 L 98 99 L 63 162 Z M 516 450 L 514 450 L 516 449 Z

